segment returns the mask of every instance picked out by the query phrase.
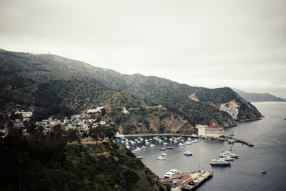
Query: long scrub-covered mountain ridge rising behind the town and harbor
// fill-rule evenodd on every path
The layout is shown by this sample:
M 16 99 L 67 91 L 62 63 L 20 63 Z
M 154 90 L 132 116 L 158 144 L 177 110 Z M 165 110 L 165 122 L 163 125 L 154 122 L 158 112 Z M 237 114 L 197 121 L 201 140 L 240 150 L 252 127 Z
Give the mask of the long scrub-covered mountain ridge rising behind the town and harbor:
M 0 50 L 0 71 L 1 111 L 35 110 L 38 119 L 102 106 L 106 115 L 96 117 L 116 121 L 129 133 L 195 131 L 196 124 L 236 126 L 229 114 L 219 110 L 221 103 L 230 102 L 243 105 L 238 107 L 238 121 L 262 117 L 230 88 L 192 87 L 156 76 L 120 74 L 52 54 Z M 149 108 L 158 105 L 162 109 Z M 123 107 L 146 111 L 123 114 Z

